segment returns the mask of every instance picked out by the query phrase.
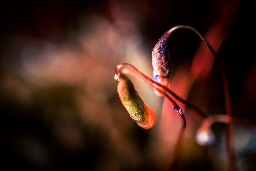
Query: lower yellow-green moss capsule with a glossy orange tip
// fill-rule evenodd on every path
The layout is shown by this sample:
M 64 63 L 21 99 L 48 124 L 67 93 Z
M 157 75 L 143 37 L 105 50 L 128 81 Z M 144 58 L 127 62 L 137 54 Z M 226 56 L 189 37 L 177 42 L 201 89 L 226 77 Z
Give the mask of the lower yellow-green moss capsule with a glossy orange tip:
M 126 76 L 120 76 L 117 84 L 119 98 L 130 117 L 143 129 L 150 129 L 156 123 L 156 113 L 142 101 L 134 85 Z

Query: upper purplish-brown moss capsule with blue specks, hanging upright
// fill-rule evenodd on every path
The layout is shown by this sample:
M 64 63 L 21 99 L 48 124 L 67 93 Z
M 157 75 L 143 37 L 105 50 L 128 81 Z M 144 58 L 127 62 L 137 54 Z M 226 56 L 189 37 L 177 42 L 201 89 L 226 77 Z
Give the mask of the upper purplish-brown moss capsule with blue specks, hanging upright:
M 171 75 L 171 57 L 168 49 L 170 30 L 158 40 L 152 51 L 153 80 L 168 85 Z

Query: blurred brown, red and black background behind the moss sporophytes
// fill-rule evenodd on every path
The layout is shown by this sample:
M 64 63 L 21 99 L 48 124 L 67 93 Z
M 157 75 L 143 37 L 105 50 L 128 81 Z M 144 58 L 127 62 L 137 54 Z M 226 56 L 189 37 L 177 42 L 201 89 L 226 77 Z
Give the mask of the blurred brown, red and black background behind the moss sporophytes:
M 171 27 L 186 24 L 219 54 L 238 118 L 236 165 L 241 171 L 256 169 L 256 1 L 10 0 L 1 2 L 0 21 L 2 168 L 167 170 L 179 116 L 144 82 L 131 78 L 157 113 L 156 125 L 141 129 L 120 102 L 114 69 L 130 63 L 151 78 L 154 45 Z M 170 89 L 207 115 L 225 114 L 218 66 L 198 36 L 177 30 L 170 52 Z M 202 119 L 182 109 L 187 128 L 178 170 L 226 170 L 226 125 L 214 123 L 216 142 L 202 147 L 195 141 Z

